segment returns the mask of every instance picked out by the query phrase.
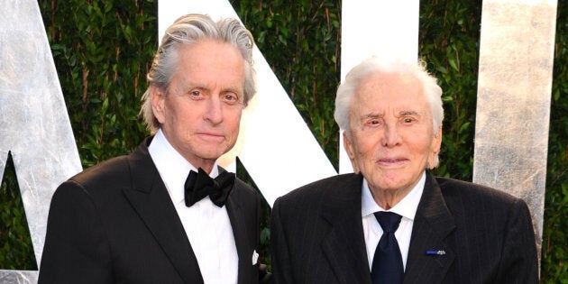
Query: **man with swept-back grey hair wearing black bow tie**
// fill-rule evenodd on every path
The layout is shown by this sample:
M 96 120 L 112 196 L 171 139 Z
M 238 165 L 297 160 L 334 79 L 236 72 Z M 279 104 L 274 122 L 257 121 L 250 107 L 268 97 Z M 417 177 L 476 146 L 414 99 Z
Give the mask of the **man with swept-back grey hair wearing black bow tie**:
M 252 45 L 233 19 L 169 26 L 143 96 L 151 137 L 56 190 L 40 283 L 259 282 L 260 197 L 216 161 L 256 91 Z

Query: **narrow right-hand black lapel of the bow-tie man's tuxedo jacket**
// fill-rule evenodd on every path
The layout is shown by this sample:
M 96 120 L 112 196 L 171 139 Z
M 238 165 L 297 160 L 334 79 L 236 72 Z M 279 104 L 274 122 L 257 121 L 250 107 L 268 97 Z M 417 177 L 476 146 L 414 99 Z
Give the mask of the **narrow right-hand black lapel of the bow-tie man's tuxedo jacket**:
M 236 182 L 235 187 L 237 187 Z M 253 248 L 249 245 L 251 237 L 246 230 L 246 219 L 243 215 L 243 209 L 241 208 L 242 205 L 239 202 L 238 194 L 239 190 L 233 188 L 233 191 L 229 197 L 227 197 L 225 206 L 229 220 L 231 221 L 231 227 L 233 228 L 234 244 L 236 245 L 237 254 L 239 256 L 238 283 L 249 283 L 252 279 L 252 276 L 249 274 L 252 266 Z

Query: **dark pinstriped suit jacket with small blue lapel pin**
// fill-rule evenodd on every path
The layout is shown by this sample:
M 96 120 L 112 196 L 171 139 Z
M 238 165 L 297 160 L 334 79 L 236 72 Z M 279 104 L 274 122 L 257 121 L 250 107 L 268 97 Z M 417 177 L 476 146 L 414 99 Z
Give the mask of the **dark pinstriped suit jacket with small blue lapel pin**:
M 275 283 L 371 284 L 361 188 L 361 175 L 346 174 L 276 200 L 270 234 Z M 404 283 L 537 283 L 533 232 L 521 199 L 427 173 Z

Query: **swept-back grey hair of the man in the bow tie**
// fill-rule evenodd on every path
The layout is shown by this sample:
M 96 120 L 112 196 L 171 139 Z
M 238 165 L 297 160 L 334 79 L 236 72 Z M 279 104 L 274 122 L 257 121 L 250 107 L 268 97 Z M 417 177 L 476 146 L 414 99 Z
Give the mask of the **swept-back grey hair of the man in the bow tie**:
M 151 109 L 150 87 L 154 85 L 167 91 L 178 63 L 179 49 L 177 47 L 181 44 L 191 46 L 207 39 L 229 43 L 241 52 L 245 61 L 243 105 L 248 105 L 252 96 L 256 93 L 256 82 L 252 67 L 254 39 L 251 32 L 235 19 L 222 19 L 215 22 L 205 14 L 186 14 L 179 17 L 166 30 L 158 47 L 158 52 L 152 60 L 151 69 L 146 75 L 149 86 L 142 96 L 140 115 L 152 134 L 158 131 L 160 123 Z

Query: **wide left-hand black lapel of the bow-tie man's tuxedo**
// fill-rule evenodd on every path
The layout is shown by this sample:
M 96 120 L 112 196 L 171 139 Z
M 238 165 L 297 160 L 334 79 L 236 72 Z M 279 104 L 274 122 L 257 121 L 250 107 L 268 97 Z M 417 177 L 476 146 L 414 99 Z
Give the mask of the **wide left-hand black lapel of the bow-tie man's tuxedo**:
M 171 202 L 168 191 L 151 161 L 147 139 L 129 156 L 133 188 L 124 195 L 148 226 L 186 283 L 203 283 L 195 253 Z

